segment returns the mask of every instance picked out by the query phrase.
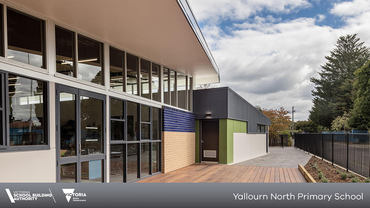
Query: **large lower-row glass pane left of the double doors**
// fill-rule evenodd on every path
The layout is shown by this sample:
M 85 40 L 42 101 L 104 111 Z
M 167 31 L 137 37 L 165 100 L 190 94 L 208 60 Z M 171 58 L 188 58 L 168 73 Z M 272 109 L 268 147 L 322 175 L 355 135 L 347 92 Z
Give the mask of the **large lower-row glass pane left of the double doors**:
M 46 83 L 9 74 L 10 146 L 46 145 Z

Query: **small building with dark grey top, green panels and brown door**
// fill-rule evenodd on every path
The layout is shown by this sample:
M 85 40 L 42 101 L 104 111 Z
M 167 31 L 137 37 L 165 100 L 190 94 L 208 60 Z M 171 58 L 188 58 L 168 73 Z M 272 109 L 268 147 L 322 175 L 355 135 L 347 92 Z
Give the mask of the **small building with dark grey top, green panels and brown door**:
M 232 164 L 268 152 L 271 120 L 229 87 L 193 91 L 196 162 Z

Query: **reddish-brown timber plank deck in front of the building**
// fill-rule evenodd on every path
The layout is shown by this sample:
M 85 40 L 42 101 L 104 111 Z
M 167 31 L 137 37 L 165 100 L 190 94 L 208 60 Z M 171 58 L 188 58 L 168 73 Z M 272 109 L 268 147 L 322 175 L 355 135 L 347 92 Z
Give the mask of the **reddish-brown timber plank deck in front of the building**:
M 298 168 L 275 168 L 240 165 L 192 164 L 168 173 L 145 178 L 137 183 L 302 183 L 307 182 Z

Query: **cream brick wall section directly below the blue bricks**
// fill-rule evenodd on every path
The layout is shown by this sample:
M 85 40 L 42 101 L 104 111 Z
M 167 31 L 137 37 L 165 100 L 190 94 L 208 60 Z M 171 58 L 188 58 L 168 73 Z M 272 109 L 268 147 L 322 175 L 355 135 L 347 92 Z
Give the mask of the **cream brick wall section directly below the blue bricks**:
M 195 133 L 162 131 L 162 173 L 195 163 Z

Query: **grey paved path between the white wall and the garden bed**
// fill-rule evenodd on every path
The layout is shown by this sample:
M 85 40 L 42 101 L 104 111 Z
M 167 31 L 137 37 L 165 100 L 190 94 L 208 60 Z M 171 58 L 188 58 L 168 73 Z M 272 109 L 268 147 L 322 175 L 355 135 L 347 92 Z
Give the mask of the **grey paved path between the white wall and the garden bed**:
M 305 166 L 310 160 L 310 154 L 293 147 L 269 147 L 270 154 L 238 162 L 233 165 L 263 166 L 277 168 L 297 168 L 298 164 Z

